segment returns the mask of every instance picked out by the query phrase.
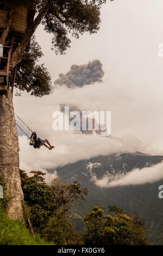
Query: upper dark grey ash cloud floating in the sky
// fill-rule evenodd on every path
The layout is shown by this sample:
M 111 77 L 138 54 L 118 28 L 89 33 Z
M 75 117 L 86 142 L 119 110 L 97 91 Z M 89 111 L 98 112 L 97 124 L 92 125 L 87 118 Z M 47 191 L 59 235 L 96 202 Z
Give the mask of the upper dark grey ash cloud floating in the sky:
M 86 84 L 102 82 L 104 76 L 102 63 L 96 59 L 84 65 L 72 65 L 67 74 L 60 74 L 54 84 L 65 84 L 68 88 L 83 87 Z

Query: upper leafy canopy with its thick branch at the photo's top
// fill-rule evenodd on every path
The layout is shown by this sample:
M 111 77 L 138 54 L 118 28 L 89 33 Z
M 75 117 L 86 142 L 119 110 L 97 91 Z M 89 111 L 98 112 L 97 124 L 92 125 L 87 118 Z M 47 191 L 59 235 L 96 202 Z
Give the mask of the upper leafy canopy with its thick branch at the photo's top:
M 21 61 L 22 54 L 40 23 L 47 33 L 52 34 L 52 50 L 55 50 L 55 53 L 65 53 L 71 44 L 70 35 L 79 38 L 79 34 L 85 32 L 97 33 L 101 23 L 100 10 L 105 2 L 106 0 L 22 0 L 21 3 L 18 0 L 7 1 L 6 8 L 10 13 L 16 6 L 25 6 L 32 15 L 30 27 L 12 54 L 12 68 Z M 11 22 L 7 20 L 7 24 L 6 32 L 2 33 L 3 41 L 8 37 Z

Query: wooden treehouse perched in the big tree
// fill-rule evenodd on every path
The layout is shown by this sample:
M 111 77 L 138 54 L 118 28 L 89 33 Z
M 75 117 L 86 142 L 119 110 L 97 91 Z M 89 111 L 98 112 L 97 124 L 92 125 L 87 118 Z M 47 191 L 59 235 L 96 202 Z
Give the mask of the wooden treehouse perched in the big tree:
M 28 8 L 17 7 L 12 10 L 9 18 L 6 2 L 0 0 L 0 94 L 7 93 L 9 88 L 11 88 L 13 94 L 16 70 L 20 68 L 20 63 L 11 68 L 12 53 L 20 44 L 26 29 L 34 19 L 34 15 L 30 13 Z M 7 30 L 8 34 L 5 42 L 1 44 L 3 34 Z M 27 51 L 29 51 L 29 46 Z

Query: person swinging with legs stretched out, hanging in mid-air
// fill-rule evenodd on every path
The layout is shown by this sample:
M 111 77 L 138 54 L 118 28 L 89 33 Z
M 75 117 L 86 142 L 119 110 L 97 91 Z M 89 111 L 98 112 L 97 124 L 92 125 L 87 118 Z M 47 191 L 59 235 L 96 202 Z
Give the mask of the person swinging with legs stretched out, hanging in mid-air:
M 48 139 L 40 139 L 37 136 L 36 132 L 33 132 L 30 136 L 29 145 L 33 146 L 35 149 L 39 149 L 42 145 L 44 145 L 49 150 L 52 150 L 54 148 L 54 146 L 52 146 L 51 143 L 49 143 Z

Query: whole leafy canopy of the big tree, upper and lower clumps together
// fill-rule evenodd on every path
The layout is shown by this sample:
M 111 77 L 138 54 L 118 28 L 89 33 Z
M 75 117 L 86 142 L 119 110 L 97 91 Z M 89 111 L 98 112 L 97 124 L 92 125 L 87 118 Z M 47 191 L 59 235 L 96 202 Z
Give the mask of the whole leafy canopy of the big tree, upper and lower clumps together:
M 18 0 L 7 1 L 8 10 L 13 10 L 18 5 L 22 8 L 28 7 L 29 13 L 36 15 L 33 22 L 30 19 L 30 28 L 27 29 L 11 58 L 13 68 L 21 61 L 15 86 L 34 96 L 48 95 L 52 89 L 51 76 L 44 64 L 37 64 L 43 55 L 34 38 L 37 26 L 42 23 L 45 31 L 53 35 L 52 50 L 55 50 L 56 54 L 64 54 L 71 45 L 70 35 L 79 38 L 79 34 L 82 35 L 85 32 L 97 33 L 101 23 L 100 10 L 105 2 L 106 0 L 23 0 L 20 4 Z M 5 37 L 7 38 L 7 34 Z M 26 52 L 30 40 L 30 51 Z

